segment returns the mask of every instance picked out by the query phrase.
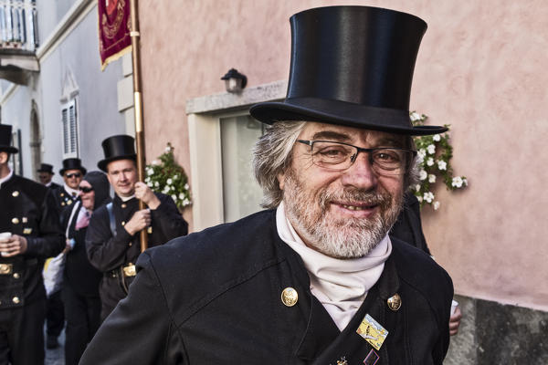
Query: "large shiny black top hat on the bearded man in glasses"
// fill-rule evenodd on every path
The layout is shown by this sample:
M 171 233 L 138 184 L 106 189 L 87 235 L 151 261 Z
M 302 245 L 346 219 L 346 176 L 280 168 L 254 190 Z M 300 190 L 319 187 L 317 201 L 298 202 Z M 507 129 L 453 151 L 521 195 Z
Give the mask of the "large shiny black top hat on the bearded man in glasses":
M 413 127 L 409 97 L 416 54 L 427 24 L 420 18 L 369 6 L 328 6 L 290 18 L 287 97 L 253 106 L 272 124 L 310 120 L 408 135 L 444 127 Z

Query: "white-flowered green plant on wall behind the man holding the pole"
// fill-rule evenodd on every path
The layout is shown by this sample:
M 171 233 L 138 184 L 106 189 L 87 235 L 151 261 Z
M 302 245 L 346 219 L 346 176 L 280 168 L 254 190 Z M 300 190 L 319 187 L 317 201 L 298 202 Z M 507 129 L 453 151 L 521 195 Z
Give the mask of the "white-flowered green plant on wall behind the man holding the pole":
M 188 178 L 174 158 L 174 148 L 167 143 L 165 151 L 151 164 L 146 165 L 146 183 L 156 192 L 170 195 L 179 209 L 192 204 Z

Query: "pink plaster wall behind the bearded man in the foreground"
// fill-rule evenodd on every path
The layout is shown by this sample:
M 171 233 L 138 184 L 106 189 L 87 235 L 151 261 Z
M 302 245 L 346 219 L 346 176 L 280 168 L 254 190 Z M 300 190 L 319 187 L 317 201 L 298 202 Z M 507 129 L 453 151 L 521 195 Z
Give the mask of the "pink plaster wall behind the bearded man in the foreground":
M 286 79 L 289 17 L 320 5 L 377 5 L 428 23 L 411 108 L 452 126 L 465 191 L 441 186 L 424 211 L 427 240 L 458 294 L 548 310 L 548 3 L 538 1 L 141 1 L 147 155 L 165 142 L 189 172 L 185 101 L 224 91 L 228 68 L 248 85 Z M 185 213 L 189 219 L 189 212 Z

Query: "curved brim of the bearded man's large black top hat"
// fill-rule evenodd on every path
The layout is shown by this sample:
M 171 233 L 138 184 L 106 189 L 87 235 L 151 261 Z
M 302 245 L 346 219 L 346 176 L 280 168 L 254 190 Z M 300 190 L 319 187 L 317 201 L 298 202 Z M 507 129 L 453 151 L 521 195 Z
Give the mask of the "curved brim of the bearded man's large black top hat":
M 408 110 L 369 107 L 332 99 L 294 98 L 281 102 L 263 102 L 251 107 L 249 112 L 253 118 L 267 124 L 281 120 L 317 121 L 412 136 L 438 134 L 448 130 L 440 126 L 414 127 Z

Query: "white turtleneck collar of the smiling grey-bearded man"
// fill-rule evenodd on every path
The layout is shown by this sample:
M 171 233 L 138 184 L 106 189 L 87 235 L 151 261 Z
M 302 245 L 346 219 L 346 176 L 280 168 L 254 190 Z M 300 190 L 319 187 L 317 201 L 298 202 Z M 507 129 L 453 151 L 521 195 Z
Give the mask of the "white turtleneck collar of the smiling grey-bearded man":
M 311 292 L 320 300 L 337 327 L 342 330 L 377 282 L 392 252 L 388 235 L 364 257 L 339 259 L 308 247 L 290 224 L 284 203 L 276 211 L 278 235 L 304 262 L 311 279 Z

